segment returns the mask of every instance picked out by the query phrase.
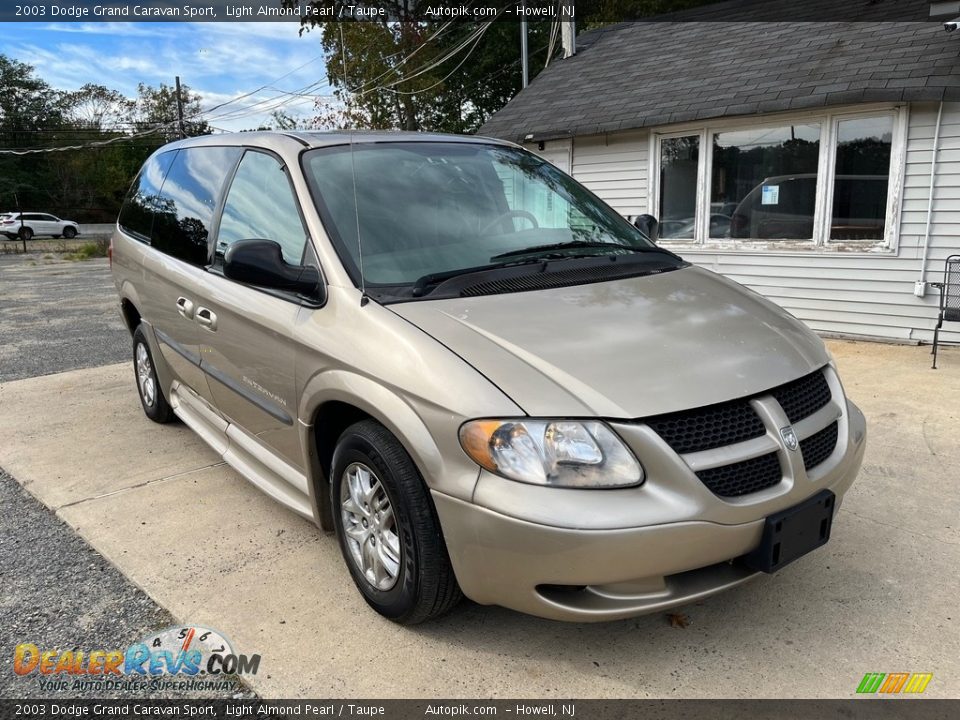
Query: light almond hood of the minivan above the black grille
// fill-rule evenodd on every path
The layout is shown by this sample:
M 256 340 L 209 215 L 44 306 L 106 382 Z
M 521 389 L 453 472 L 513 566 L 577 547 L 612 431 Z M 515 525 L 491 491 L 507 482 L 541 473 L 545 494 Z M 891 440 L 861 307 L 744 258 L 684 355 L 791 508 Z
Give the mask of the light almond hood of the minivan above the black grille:
M 389 308 L 534 416 L 658 415 L 761 392 L 829 361 L 792 315 L 697 267 Z

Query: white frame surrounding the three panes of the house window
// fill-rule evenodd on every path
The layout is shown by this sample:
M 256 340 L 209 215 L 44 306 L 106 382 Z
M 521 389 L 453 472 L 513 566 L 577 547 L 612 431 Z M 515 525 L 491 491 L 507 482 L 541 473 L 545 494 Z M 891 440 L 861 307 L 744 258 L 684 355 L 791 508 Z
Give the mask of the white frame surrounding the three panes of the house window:
M 831 240 L 833 216 L 833 190 L 836 169 L 836 151 L 839 124 L 843 120 L 856 120 L 890 116 L 893 118 L 893 133 L 890 148 L 889 183 L 885 229 L 882 240 Z M 814 206 L 813 238 L 794 239 L 734 239 L 711 238 L 710 188 L 713 175 L 713 141 L 718 133 L 736 130 L 782 127 L 786 124 L 820 124 L 820 151 L 817 162 L 817 197 Z M 769 116 L 746 116 L 719 118 L 705 122 L 684 123 L 650 132 L 648 165 L 647 211 L 659 217 L 660 208 L 660 163 L 661 145 L 665 139 L 698 136 L 700 155 L 697 166 L 696 223 L 690 240 L 664 238 L 660 244 L 680 252 L 764 252 L 801 253 L 810 252 L 864 254 L 897 253 L 900 241 L 900 214 L 903 203 L 903 183 L 907 130 L 909 127 L 909 104 L 865 104 L 856 107 L 819 108 L 805 112 L 776 113 Z

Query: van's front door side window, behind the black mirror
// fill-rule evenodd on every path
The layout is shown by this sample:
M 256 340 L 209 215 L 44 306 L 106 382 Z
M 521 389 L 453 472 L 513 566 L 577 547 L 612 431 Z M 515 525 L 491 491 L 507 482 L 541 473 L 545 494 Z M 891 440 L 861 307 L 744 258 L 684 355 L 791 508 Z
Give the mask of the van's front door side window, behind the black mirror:
M 237 240 L 254 238 L 276 241 L 291 265 L 300 264 L 307 240 L 283 165 L 262 152 L 248 152 L 240 161 L 220 218 L 217 254 Z

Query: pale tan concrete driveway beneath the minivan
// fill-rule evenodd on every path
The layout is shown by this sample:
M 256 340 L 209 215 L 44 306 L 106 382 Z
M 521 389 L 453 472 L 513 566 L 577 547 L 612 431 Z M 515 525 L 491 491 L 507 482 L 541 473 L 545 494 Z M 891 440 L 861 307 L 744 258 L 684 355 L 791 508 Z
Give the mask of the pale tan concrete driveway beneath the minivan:
M 569 625 L 462 604 L 401 628 L 336 542 L 182 425 L 128 364 L 0 386 L 0 467 L 184 622 L 262 655 L 265 697 L 852 697 L 866 672 L 960 695 L 960 351 L 831 341 L 869 421 L 831 542 L 774 577 L 664 615 Z M 69 588 L 64 588 L 69 592 Z M 110 639 L 104 638 L 109 644 Z

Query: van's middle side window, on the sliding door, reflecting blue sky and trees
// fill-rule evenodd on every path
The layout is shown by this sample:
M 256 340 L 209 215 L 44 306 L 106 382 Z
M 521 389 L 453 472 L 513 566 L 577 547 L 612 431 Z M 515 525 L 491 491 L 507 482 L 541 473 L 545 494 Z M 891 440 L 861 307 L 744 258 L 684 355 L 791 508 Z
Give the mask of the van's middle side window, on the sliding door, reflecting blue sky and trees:
M 207 240 L 227 173 L 240 148 L 185 148 L 177 153 L 154 208 L 152 244 L 193 265 L 207 264 Z

